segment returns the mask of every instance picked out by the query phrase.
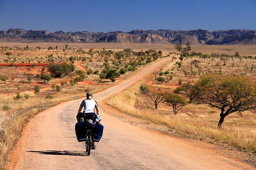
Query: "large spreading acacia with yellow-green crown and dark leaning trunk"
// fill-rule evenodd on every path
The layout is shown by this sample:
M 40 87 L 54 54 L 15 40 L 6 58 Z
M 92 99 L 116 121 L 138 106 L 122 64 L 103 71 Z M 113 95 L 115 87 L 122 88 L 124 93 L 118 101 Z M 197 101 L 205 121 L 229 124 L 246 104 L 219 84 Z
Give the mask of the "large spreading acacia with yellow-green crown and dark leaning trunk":
M 218 128 L 231 113 L 241 114 L 246 110 L 256 113 L 256 84 L 249 77 L 207 75 L 195 86 L 198 89 L 195 104 L 207 104 L 221 110 Z

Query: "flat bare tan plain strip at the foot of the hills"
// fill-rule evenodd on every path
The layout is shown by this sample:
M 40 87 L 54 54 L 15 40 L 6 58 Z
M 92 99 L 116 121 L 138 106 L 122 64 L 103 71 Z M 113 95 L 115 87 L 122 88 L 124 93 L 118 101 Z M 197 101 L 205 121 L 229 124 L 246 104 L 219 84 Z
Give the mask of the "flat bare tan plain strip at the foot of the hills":
M 65 48 L 65 44 L 68 44 L 68 48 L 82 48 L 94 50 L 123 50 L 125 48 L 131 48 L 135 51 L 139 50 L 162 50 L 164 54 L 172 51 L 176 51 L 174 44 L 139 44 L 139 43 L 49 43 L 49 42 L 40 42 L 40 43 L 12 43 L 12 42 L 1 42 L 0 46 L 8 47 L 37 47 L 48 48 L 49 46 L 55 47 L 58 46 L 59 49 Z M 192 51 L 207 53 L 207 54 L 232 54 L 234 55 L 238 52 L 241 55 L 256 55 L 256 45 L 191 45 Z

